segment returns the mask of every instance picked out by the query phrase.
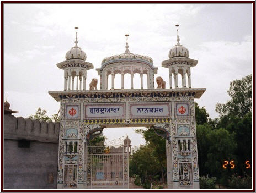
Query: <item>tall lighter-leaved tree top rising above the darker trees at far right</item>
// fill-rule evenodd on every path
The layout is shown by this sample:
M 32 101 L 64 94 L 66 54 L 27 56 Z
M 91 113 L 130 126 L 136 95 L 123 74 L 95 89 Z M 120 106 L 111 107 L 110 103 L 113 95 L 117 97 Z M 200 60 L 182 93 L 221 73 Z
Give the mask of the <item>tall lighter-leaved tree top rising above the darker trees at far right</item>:
M 221 117 L 234 115 L 242 118 L 248 112 L 252 111 L 252 75 L 247 75 L 242 80 L 230 82 L 230 89 L 227 91 L 231 97 L 226 104 L 216 104 L 216 112 Z

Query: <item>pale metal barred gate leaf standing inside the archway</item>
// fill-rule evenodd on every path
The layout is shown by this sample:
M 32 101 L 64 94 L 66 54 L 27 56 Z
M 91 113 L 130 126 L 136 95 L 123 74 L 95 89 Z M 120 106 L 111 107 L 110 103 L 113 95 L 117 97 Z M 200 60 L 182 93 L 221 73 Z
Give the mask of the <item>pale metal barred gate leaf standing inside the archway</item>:
M 129 188 L 129 148 L 114 145 L 115 139 L 104 146 L 87 146 L 88 188 Z

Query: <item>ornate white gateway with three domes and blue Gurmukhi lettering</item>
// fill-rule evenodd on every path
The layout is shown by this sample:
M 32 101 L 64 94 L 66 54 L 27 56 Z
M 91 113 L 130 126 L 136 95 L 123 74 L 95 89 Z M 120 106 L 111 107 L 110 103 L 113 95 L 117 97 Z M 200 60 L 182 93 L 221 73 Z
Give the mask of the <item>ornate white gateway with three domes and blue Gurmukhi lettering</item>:
M 178 26 L 177 43 L 170 49 L 169 59 L 162 62 L 162 67 L 169 69 L 169 88 L 168 77 L 157 77 L 155 86 L 158 68 L 151 57 L 131 53 L 129 35 L 125 35 L 125 52 L 104 58 L 96 69 L 99 78 L 94 77 L 86 90 L 87 70 L 94 67 L 86 62 L 86 53 L 78 47 L 76 32 L 75 46 L 66 53 L 66 60 L 57 64 L 64 70 L 64 90 L 49 91 L 61 102 L 58 188 L 129 188 L 129 163 L 124 161 L 127 157 L 118 162 L 121 170 L 106 169 L 100 165 L 101 159 L 95 157 L 97 151 L 92 152 L 88 145 L 104 128 L 124 128 L 125 133 L 126 127 L 138 126 L 151 127 L 156 135 L 166 139 L 168 188 L 199 188 L 194 99 L 200 98 L 205 89 L 191 88 L 190 68 L 198 61 L 190 59 L 188 49 L 180 44 Z M 141 89 L 134 89 L 136 73 L 140 75 L 141 81 L 136 83 L 140 83 Z M 121 74 L 121 89 L 115 88 L 116 74 Z M 124 89 L 126 74 L 130 75 L 129 89 Z M 143 75 L 147 77 L 147 87 L 143 87 Z M 105 147 L 104 152 L 111 150 Z M 127 155 L 127 148 L 120 147 L 121 150 Z M 111 161 L 110 155 L 106 157 Z

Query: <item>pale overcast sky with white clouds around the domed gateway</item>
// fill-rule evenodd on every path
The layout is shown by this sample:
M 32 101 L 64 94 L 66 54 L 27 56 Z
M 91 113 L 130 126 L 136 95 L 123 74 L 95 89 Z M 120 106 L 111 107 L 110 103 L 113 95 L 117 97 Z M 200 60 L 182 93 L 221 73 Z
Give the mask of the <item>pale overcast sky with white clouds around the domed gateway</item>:
M 79 27 L 78 46 L 94 65 L 87 71 L 87 88 L 92 78 L 99 79 L 95 69 L 103 58 L 124 53 L 125 34 L 130 35 L 130 52 L 150 56 L 169 87 L 161 63 L 176 44 L 175 24 L 189 58 L 198 60 L 191 68 L 191 86 L 206 88 L 195 102 L 216 118 L 216 104 L 230 100 L 230 82 L 252 74 L 250 4 L 6 4 L 4 100 L 8 97 L 10 109 L 19 111 L 16 117 L 26 118 L 38 107 L 50 116 L 58 112 L 60 103 L 48 91 L 63 90 L 63 70 L 56 64 L 74 46 L 74 27 Z M 115 81 L 120 87 L 121 80 Z M 134 128 L 103 132 L 107 141 L 127 134 L 133 146 L 145 144 Z

